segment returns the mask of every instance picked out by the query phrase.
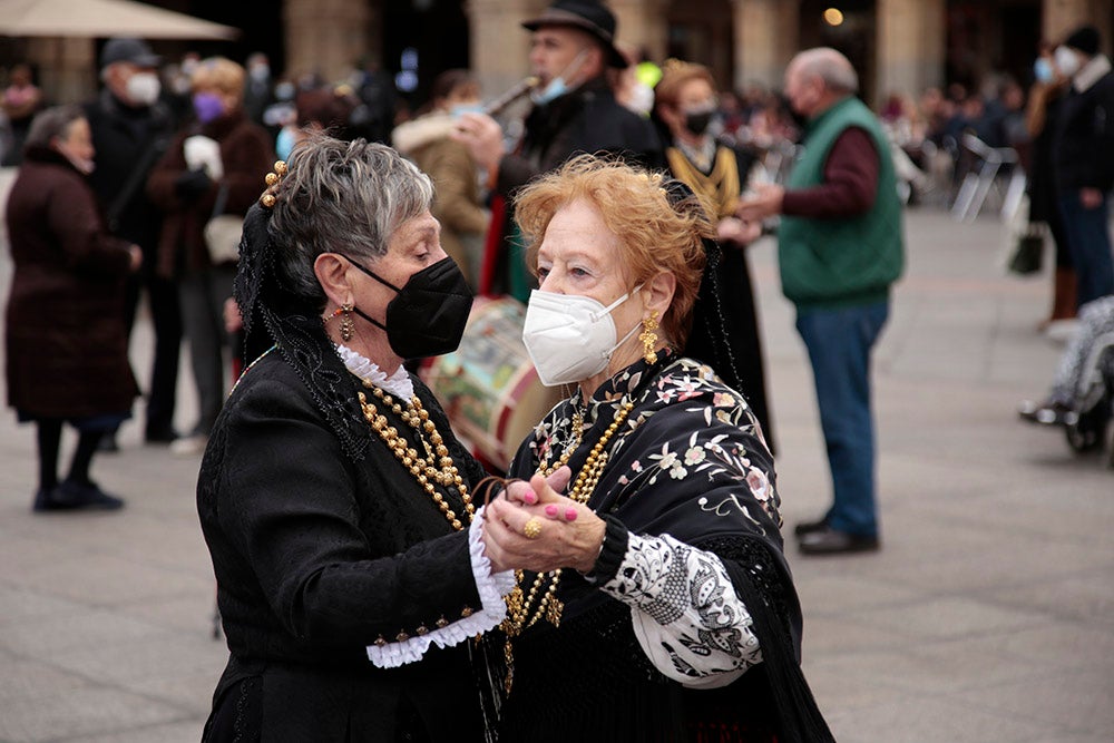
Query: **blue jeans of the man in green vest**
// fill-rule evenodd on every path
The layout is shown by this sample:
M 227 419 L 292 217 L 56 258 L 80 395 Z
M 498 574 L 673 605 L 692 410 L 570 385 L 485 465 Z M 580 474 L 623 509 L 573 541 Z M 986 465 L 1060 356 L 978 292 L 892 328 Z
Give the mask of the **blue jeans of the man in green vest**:
M 797 331 L 809 350 L 820 424 L 832 471 L 828 524 L 859 536 L 878 535 L 874 423 L 870 412 L 870 350 L 889 316 L 889 302 L 805 310 Z

